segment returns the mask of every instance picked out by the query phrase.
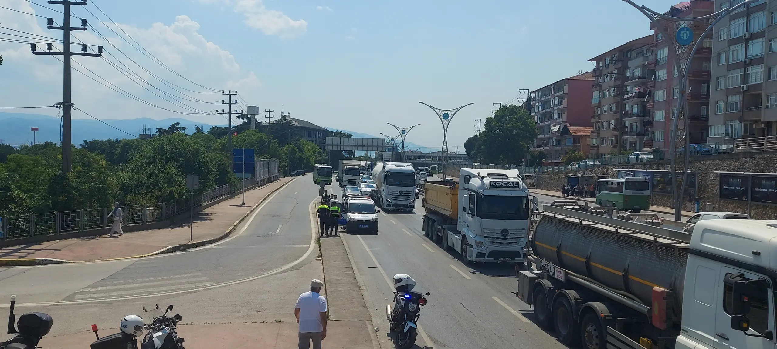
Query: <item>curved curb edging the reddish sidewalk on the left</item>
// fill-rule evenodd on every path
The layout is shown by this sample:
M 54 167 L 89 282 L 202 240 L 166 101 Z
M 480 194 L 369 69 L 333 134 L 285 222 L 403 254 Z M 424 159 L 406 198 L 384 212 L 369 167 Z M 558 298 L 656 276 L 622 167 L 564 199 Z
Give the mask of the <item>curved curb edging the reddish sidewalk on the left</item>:
M 242 223 L 242 221 L 245 220 L 246 217 L 248 217 L 251 213 L 253 213 L 253 211 L 256 208 L 262 205 L 267 200 L 267 198 L 269 198 L 276 192 L 280 191 L 280 189 L 285 188 L 286 185 L 294 181 L 294 179 L 297 179 L 297 178 L 291 178 L 291 180 L 284 183 L 284 185 L 280 185 L 280 187 L 274 188 L 272 191 L 268 192 L 267 195 L 264 195 L 264 197 L 261 200 L 259 200 L 259 202 L 256 202 L 254 206 L 251 206 L 251 209 L 249 209 L 248 212 L 246 212 L 246 214 L 242 215 L 238 220 L 235 221 L 235 223 L 232 223 L 232 226 L 229 226 L 227 231 L 225 231 L 225 233 L 221 234 L 218 237 L 214 237 L 207 240 L 194 241 L 187 244 L 168 246 L 168 247 L 162 248 L 162 250 L 152 252 L 150 254 L 138 254 L 137 256 L 117 257 L 117 258 L 108 258 L 108 259 L 96 259 L 92 261 L 65 261 L 63 259 L 54 259 L 54 258 L 19 258 L 19 259 L 0 258 L 0 267 L 25 267 L 25 266 L 35 266 L 35 265 L 48 265 L 48 264 L 88 263 L 88 262 L 96 262 L 96 261 L 121 261 L 124 259 L 150 257 L 158 254 L 171 254 L 173 252 L 180 252 L 194 247 L 213 244 L 215 242 L 224 240 L 230 235 L 232 235 L 232 233 L 235 232 L 235 229 L 237 229 L 240 223 Z

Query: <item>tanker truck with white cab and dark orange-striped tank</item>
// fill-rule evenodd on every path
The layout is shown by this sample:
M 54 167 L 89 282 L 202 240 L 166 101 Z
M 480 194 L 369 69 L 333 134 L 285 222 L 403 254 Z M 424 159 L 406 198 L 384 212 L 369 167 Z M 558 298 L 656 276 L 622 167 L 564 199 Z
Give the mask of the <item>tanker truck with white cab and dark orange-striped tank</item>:
M 587 349 L 775 347 L 777 220 L 700 220 L 688 232 L 542 206 L 537 271 L 518 298 Z

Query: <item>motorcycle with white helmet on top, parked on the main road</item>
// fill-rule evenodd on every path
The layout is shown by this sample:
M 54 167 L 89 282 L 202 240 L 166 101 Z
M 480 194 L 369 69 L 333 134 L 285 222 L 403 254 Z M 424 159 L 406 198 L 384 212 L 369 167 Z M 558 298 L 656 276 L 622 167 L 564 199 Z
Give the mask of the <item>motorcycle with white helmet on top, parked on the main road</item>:
M 389 330 L 396 333 L 397 349 L 407 349 L 416 343 L 421 306 L 427 305 L 424 295 L 413 292 L 415 285 L 416 281 L 410 275 L 394 275 L 394 306 L 386 305 L 386 319 L 389 320 Z

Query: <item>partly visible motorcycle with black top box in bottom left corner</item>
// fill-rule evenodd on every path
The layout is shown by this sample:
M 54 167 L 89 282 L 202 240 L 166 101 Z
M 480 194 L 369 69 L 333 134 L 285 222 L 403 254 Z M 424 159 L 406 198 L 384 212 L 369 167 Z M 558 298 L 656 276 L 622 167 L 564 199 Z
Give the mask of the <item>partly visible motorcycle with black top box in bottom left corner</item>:
M 11 311 L 8 316 L 8 334 L 13 338 L 0 343 L 0 349 L 35 349 L 40 339 L 49 333 L 54 326 L 54 320 L 46 313 L 24 313 L 19 316 L 19 322 L 14 328 L 16 314 L 13 308 L 16 306 L 16 295 L 11 295 Z

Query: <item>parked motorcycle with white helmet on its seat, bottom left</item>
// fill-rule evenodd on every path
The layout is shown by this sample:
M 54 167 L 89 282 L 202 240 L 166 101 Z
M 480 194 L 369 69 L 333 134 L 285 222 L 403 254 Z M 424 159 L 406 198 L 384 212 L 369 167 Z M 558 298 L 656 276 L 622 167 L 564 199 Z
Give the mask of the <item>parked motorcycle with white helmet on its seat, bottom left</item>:
M 182 318 L 179 314 L 167 317 L 171 310 L 172 306 L 168 306 L 161 316 L 154 316 L 154 312 L 162 313 L 159 304 L 151 310 L 143 308 L 145 313 L 152 313 L 152 323 L 145 323 L 138 315 L 127 315 L 121 320 L 121 332 L 103 338 L 97 335 L 97 325 L 92 325 L 97 340 L 92 343 L 91 349 L 138 349 L 137 338 L 143 335 L 144 330 L 148 333 L 141 340 L 141 349 L 185 349 L 183 337 L 178 337 L 176 332 L 177 323 Z

